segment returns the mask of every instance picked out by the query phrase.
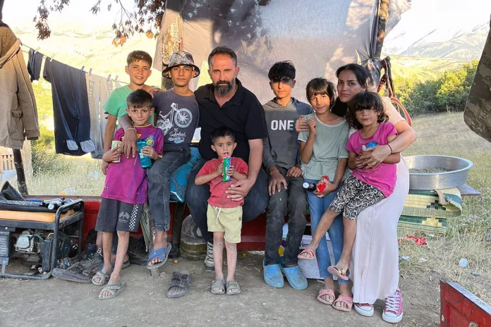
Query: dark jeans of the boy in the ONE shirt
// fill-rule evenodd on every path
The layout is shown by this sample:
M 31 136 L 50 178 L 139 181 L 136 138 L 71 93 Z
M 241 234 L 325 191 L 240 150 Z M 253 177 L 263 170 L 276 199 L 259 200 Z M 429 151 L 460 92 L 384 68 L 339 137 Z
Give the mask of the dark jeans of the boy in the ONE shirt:
M 279 172 L 286 179 L 288 189 L 281 184 L 281 190 L 269 196 L 267 206 L 266 226 L 266 264 L 279 264 L 278 248 L 283 240 L 283 225 L 286 211 L 289 211 L 288 235 L 284 247 L 284 264 L 286 266 L 298 264 L 298 252 L 305 232 L 305 213 L 307 211 L 307 195 L 303 188 L 302 177 L 286 177 L 286 169 L 278 167 Z M 268 174 L 268 181 L 271 176 Z

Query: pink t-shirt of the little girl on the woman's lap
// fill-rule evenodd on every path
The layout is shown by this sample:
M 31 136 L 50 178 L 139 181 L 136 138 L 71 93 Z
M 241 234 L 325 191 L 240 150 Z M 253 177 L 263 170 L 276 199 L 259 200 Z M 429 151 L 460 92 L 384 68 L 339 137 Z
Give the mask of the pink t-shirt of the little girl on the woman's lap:
M 391 123 L 381 123 L 372 137 L 364 139 L 361 137 L 361 130 L 354 132 L 348 139 L 346 149 L 349 152 L 361 153 L 361 146 L 370 142 L 377 142 L 378 145 L 387 144 L 389 135 L 397 134 L 397 130 Z M 394 163 L 380 163 L 377 168 L 356 168 L 351 175 L 355 176 L 363 183 L 377 187 L 385 197 L 389 197 L 396 187 L 396 165 Z

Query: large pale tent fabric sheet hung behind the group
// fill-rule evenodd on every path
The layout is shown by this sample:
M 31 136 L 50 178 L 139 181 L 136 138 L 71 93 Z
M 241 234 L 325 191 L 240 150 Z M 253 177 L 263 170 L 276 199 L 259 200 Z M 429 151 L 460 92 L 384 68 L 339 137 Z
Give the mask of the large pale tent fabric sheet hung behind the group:
M 154 68 L 162 70 L 165 32 L 183 18 L 183 49 L 202 68 L 193 88 L 208 82 L 207 57 L 226 45 L 238 55 L 238 78 L 261 103 L 272 98 L 267 72 L 276 61 L 297 68 L 293 96 L 305 100 L 315 77 L 334 80 L 346 63 L 365 63 L 375 52 L 378 0 L 169 0 L 157 43 Z M 386 31 L 396 25 L 411 0 L 391 0 Z

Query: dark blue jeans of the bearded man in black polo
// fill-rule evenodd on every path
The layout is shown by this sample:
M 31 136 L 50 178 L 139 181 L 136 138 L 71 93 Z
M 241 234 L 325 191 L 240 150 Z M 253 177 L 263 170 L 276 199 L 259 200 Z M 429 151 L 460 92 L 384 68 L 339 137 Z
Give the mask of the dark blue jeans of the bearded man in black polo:
M 200 159 L 193 168 L 189 176 L 188 190 L 186 191 L 186 202 L 189 211 L 196 225 L 200 228 L 201 234 L 207 242 L 213 242 L 213 233 L 208 231 L 206 211 L 208 198 L 210 198 L 210 185 L 195 185 L 196 175 L 205 165 L 205 159 Z M 267 206 L 267 173 L 261 169 L 257 174 L 256 182 L 244 199 L 242 206 L 242 223 L 252 221 L 254 218 L 265 212 Z

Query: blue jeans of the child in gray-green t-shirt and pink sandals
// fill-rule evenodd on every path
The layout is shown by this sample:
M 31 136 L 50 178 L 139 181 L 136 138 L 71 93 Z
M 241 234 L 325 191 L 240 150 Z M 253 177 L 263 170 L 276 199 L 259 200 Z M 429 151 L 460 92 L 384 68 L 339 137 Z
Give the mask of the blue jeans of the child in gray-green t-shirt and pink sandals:
M 318 180 L 305 180 L 305 182 L 316 183 Z M 322 199 L 318 198 L 317 195 L 314 195 L 312 192 L 307 192 L 307 202 L 310 208 L 310 223 L 312 223 L 312 234 L 315 233 L 317 229 L 317 225 L 319 224 L 320 217 L 325 211 L 329 208 L 329 204 L 334 200 L 339 192 L 341 185 L 332 193 L 329 193 Z M 329 230 L 327 230 L 329 234 L 329 238 L 332 243 L 332 252 L 334 255 L 334 260 L 337 262 L 341 257 L 341 252 L 343 252 L 343 217 L 340 214 L 334 219 Z M 315 251 L 315 256 L 317 257 L 317 264 L 319 265 L 319 273 L 321 278 L 332 278 L 332 274 L 327 272 L 327 268 L 331 266 L 331 258 L 329 258 L 329 250 L 327 249 L 327 241 L 325 237 L 322 237 L 322 240 L 319 243 L 319 247 Z M 346 273 L 348 276 L 348 273 Z M 338 279 L 339 284 L 349 283 L 349 280 Z

